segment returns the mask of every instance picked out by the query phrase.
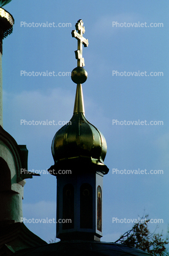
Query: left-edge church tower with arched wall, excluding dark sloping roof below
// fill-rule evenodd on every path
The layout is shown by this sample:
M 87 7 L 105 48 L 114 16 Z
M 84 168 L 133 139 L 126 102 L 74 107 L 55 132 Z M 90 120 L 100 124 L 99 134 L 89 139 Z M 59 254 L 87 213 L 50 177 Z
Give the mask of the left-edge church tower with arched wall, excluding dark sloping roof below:
M 10 1 L 2 1 L 1 6 Z M 4 130 L 2 121 L 2 40 L 12 33 L 14 19 L 0 8 L 0 225 L 4 222 L 20 222 L 24 178 L 21 168 L 27 170 L 28 150 L 17 145 L 13 137 Z M 28 177 L 27 177 L 28 178 Z M 31 177 L 29 177 L 31 178 Z

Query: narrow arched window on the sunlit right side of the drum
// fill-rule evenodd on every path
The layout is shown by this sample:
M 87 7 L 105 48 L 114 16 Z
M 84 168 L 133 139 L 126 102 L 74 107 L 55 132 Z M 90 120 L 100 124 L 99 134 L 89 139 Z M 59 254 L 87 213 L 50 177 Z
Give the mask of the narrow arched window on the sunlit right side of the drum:
M 102 189 L 97 187 L 97 230 L 102 232 Z

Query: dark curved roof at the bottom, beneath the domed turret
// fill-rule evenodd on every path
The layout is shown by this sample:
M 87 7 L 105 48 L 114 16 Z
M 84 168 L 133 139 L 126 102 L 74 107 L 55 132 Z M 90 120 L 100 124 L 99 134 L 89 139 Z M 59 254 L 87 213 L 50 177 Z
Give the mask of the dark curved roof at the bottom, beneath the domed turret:
M 116 243 L 99 241 L 60 241 L 31 249 L 20 250 L 16 256 L 148 256 L 147 252 Z

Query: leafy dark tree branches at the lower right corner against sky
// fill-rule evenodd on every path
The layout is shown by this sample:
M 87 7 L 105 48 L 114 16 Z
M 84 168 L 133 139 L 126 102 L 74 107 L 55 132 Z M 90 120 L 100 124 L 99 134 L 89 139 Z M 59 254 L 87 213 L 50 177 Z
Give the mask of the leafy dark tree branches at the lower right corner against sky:
M 148 223 L 150 219 L 148 219 L 148 214 L 141 219 L 145 219 L 145 221 L 135 223 L 132 229 L 121 235 L 115 243 L 132 246 L 154 256 L 169 255 L 166 248 L 168 237 L 163 239 L 162 233 L 155 233 L 156 230 L 153 233 L 149 232 Z

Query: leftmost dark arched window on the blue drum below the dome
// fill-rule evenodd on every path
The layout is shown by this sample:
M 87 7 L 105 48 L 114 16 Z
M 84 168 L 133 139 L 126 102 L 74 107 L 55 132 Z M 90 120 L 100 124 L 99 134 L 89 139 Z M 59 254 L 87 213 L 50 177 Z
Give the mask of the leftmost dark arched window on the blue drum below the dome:
M 67 184 L 63 188 L 62 211 L 63 211 L 62 229 L 73 228 L 74 227 L 74 188 L 73 188 L 72 184 Z M 69 219 L 71 221 L 67 221 L 67 219 Z

